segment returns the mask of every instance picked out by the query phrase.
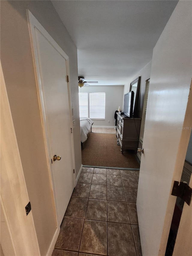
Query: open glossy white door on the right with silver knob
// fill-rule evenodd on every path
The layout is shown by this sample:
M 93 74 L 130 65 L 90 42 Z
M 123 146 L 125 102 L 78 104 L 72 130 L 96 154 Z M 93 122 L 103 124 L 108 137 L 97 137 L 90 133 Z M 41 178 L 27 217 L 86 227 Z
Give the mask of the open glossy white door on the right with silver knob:
M 153 51 L 137 194 L 143 256 L 165 255 L 173 182 L 181 179 L 190 138 L 183 129 L 192 126 L 190 10 L 190 1 L 179 1 Z

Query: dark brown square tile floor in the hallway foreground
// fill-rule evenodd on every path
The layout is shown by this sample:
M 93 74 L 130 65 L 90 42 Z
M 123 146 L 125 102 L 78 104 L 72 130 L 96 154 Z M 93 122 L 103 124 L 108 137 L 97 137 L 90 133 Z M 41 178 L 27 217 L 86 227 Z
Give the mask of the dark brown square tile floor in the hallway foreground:
M 139 171 L 83 167 L 52 256 L 142 256 Z

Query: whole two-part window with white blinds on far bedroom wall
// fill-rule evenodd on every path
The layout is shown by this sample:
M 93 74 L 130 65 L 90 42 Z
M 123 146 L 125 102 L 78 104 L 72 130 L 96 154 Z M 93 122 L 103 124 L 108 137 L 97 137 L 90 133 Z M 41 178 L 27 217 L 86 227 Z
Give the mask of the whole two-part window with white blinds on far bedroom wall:
M 79 116 L 105 119 L 105 92 L 79 92 Z

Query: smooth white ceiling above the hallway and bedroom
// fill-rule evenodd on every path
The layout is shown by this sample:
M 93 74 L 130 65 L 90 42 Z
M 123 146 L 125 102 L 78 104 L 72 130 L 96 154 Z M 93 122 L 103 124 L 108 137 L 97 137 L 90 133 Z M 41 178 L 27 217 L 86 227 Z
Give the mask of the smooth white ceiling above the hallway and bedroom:
M 151 59 L 178 1 L 52 1 L 77 47 L 78 74 L 124 85 Z

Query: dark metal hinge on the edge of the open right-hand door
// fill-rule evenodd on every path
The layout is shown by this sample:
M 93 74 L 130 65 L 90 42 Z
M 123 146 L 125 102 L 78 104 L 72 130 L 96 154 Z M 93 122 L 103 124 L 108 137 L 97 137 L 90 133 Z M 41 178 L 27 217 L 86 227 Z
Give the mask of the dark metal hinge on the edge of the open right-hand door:
M 174 181 L 173 190 L 171 193 L 173 196 L 180 197 L 188 205 L 190 205 L 192 197 L 192 188 L 187 185 L 186 182 Z

